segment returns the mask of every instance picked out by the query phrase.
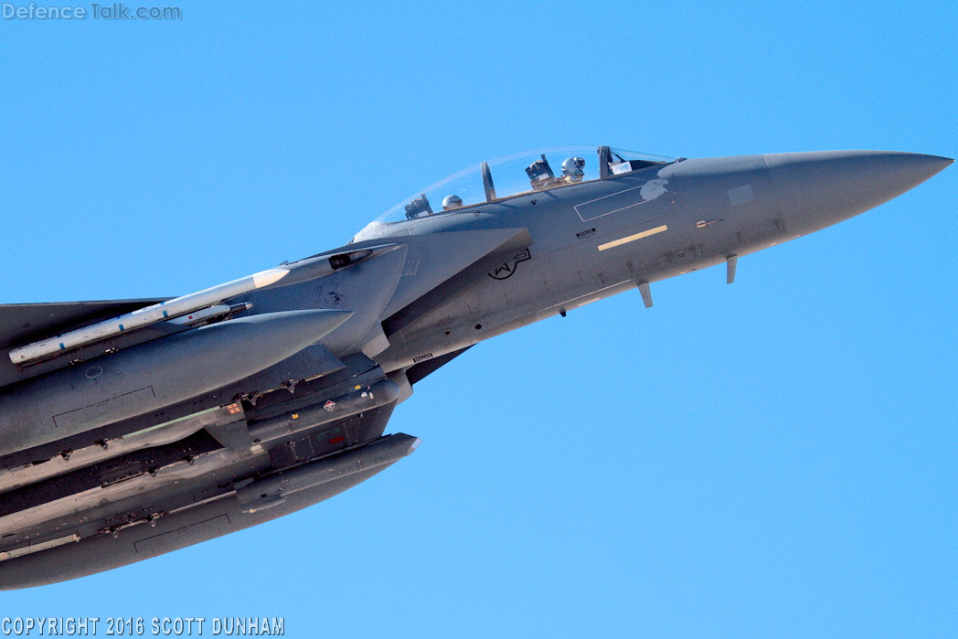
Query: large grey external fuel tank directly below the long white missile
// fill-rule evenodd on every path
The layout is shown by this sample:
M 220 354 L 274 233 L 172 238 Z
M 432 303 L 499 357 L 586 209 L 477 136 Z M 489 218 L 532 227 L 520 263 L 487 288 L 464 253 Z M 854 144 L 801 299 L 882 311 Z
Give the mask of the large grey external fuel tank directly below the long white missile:
M 34 377 L 0 396 L 0 456 L 216 391 L 302 351 L 352 315 L 239 317 Z

